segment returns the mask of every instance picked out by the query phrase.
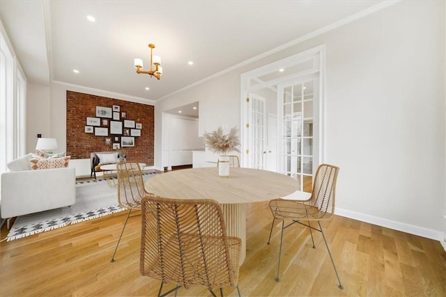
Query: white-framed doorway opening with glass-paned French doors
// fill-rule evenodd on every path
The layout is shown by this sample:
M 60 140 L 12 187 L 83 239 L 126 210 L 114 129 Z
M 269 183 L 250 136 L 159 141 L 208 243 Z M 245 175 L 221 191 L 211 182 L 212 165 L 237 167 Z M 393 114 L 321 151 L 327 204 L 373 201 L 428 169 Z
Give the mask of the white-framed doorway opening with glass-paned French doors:
M 241 164 L 290 175 L 300 191 L 323 161 L 325 45 L 241 76 Z

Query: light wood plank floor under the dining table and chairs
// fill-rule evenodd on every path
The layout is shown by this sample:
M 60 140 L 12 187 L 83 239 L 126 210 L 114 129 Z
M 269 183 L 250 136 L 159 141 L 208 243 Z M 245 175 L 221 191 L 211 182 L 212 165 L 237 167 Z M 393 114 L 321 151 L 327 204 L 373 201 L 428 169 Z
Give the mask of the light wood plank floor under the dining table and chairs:
M 139 274 L 140 216 L 131 218 L 116 262 L 110 258 L 125 213 L 0 243 L 0 296 L 155 296 L 159 282 Z M 446 296 L 446 252 L 438 241 L 334 216 L 324 222 L 337 279 L 321 234 L 316 249 L 303 226 L 286 230 L 282 279 L 275 281 L 279 225 L 268 246 L 268 204 L 247 207 L 242 296 Z M 1 229 L 1 239 L 6 236 Z M 233 288 L 225 296 L 236 296 Z M 178 296 L 209 296 L 201 288 Z

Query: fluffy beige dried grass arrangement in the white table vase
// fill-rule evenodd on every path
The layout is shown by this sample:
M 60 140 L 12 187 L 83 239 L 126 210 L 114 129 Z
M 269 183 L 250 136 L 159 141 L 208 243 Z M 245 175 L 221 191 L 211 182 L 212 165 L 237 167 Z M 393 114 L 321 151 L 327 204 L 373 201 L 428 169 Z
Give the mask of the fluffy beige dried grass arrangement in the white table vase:
M 212 152 L 217 152 L 218 154 L 226 155 L 227 152 L 238 150 L 238 145 L 240 145 L 240 138 L 238 138 L 238 129 L 236 127 L 231 128 L 229 134 L 223 134 L 222 127 L 218 127 L 217 130 L 212 132 L 205 132 L 204 145 L 209 147 Z

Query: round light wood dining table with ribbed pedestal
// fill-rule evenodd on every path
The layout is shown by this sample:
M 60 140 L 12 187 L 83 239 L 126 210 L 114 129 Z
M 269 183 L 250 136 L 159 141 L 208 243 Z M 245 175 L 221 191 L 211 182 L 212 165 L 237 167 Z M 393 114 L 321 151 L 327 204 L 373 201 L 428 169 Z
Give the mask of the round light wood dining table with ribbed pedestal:
M 151 177 L 145 186 L 146 191 L 162 198 L 219 202 L 228 236 L 242 240 L 240 264 L 246 257 L 246 204 L 284 197 L 298 190 L 298 183 L 288 175 L 236 167 L 231 167 L 229 177 L 220 177 L 216 167 L 171 171 Z

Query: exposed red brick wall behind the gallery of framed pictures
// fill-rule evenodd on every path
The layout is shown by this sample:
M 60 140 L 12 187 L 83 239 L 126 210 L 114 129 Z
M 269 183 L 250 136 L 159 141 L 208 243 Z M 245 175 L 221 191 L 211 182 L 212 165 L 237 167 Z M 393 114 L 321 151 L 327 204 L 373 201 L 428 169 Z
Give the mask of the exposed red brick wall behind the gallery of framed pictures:
M 105 138 L 114 136 L 95 136 L 94 133 L 85 133 L 86 118 L 96 117 L 96 106 L 121 106 L 121 113 L 126 113 L 126 120 L 134 120 L 142 124 L 141 136 L 134 137 L 134 147 L 122 147 L 129 161 L 146 163 L 153 166 L 154 136 L 155 136 L 155 106 L 128 102 L 107 97 L 100 97 L 67 90 L 67 156 L 71 159 L 88 159 L 91 152 L 113 151 L 113 145 L 106 145 Z M 108 125 L 101 126 L 109 128 Z M 124 122 L 123 118 L 120 118 Z M 124 125 L 123 125 L 123 129 Z M 116 135 L 117 136 L 117 135 Z M 120 138 L 121 139 L 121 138 Z

